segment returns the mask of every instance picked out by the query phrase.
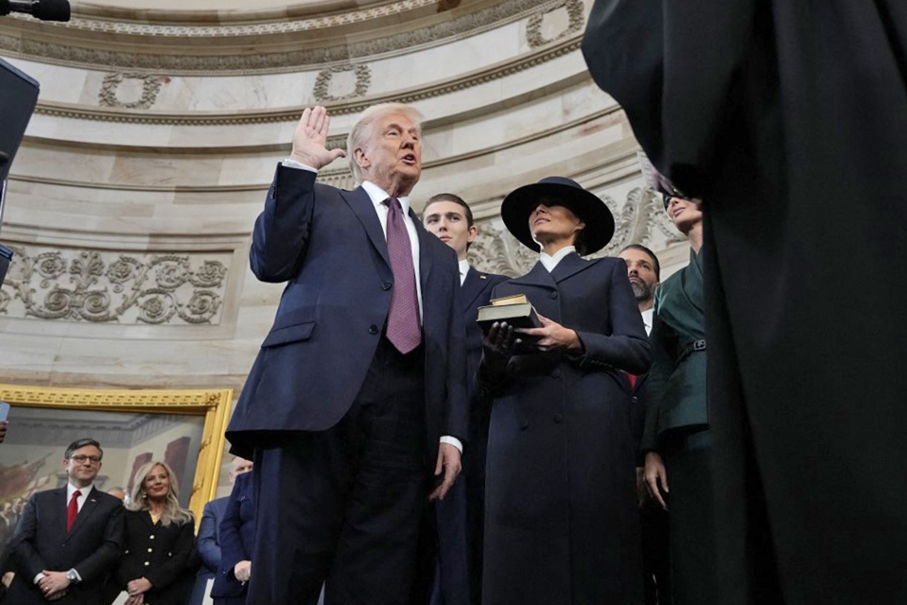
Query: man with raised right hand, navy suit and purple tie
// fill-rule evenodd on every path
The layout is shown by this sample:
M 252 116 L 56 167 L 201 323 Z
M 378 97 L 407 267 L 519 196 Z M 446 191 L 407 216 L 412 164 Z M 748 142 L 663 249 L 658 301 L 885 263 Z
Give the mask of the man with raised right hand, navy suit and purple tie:
M 362 186 L 342 191 L 315 182 L 344 151 L 306 110 L 256 221 L 252 271 L 288 285 L 227 433 L 254 455 L 249 605 L 315 603 L 325 581 L 330 603 L 409 602 L 431 575 L 422 525 L 468 418 L 456 255 L 409 209 L 420 119 L 363 112 L 347 141 Z

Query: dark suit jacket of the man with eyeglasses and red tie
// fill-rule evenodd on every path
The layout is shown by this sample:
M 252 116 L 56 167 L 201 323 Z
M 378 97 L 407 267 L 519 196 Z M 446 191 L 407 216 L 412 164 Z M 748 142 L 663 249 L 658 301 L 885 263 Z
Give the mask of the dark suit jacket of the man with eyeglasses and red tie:
M 15 605 L 44 605 L 34 576 L 43 570 L 75 569 L 82 581 L 54 601 L 101 602 L 104 580 L 120 556 L 123 541 L 122 502 L 95 489 L 88 494 L 73 528 L 66 532 L 66 487 L 35 493 L 16 527 L 13 558 L 16 574 L 6 595 Z

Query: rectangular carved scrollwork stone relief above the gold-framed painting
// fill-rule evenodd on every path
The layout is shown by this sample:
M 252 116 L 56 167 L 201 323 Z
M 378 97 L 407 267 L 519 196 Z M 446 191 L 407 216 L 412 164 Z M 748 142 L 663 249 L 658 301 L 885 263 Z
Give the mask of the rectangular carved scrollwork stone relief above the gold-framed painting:
M 217 325 L 229 253 L 10 246 L 0 314 L 60 321 Z

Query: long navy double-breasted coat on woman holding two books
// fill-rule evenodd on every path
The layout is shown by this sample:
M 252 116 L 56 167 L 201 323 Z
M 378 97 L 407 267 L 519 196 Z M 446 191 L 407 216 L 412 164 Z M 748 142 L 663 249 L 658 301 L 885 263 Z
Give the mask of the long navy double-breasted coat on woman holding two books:
M 483 604 L 640 603 L 636 452 L 620 370 L 651 361 L 622 259 L 570 254 L 494 288 L 525 294 L 584 351 L 513 356 L 495 394 L 485 483 Z M 487 380 L 486 380 L 487 379 Z

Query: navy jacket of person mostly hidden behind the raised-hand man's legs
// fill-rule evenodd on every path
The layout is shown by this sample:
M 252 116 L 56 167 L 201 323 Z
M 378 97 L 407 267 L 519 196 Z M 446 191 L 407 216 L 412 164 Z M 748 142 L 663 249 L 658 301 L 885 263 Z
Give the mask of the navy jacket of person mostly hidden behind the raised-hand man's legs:
M 211 596 L 239 597 L 249 589 L 233 575 L 239 561 L 251 561 L 255 548 L 255 500 L 252 473 L 242 473 L 233 484 L 227 507 L 220 520 L 220 567 Z

